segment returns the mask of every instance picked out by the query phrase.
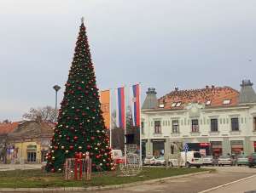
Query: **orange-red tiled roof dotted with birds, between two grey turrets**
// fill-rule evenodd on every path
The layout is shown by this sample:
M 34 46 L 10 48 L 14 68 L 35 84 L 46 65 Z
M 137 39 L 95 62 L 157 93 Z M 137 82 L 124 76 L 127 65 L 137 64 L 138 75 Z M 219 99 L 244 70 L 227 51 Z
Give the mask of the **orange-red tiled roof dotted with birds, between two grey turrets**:
M 207 101 L 211 101 L 210 105 L 206 107 L 216 106 L 232 106 L 238 105 L 239 92 L 230 87 L 207 87 L 201 89 L 191 90 L 174 90 L 170 94 L 166 94 L 158 101 L 159 104 L 164 105 L 164 109 L 183 109 L 183 105 L 189 103 L 201 103 L 207 104 Z M 224 105 L 224 100 L 230 100 L 229 105 Z M 181 102 L 180 106 L 172 106 L 174 103 Z

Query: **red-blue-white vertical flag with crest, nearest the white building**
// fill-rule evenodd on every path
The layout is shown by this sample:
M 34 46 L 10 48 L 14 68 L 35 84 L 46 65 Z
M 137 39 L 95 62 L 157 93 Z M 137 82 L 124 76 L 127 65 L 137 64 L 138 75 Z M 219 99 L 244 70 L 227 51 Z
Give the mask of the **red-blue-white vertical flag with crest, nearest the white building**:
M 131 87 L 131 111 L 133 126 L 141 126 L 141 103 L 140 103 L 140 85 L 135 84 Z

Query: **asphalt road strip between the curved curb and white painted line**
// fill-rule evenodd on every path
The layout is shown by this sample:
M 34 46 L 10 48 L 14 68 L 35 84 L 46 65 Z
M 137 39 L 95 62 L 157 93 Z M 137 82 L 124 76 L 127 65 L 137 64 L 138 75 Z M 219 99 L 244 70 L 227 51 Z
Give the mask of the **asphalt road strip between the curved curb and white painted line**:
M 101 193 L 133 193 L 133 192 L 172 192 L 172 193 L 197 193 L 221 184 L 230 183 L 237 179 L 246 178 L 256 174 L 256 168 L 248 167 L 211 167 L 216 168 L 216 173 L 201 174 L 183 179 L 171 179 L 163 183 L 143 184 L 119 190 L 94 191 Z M 253 180 L 253 179 L 252 179 Z M 249 180 L 250 181 L 250 180 Z M 250 182 L 248 182 L 250 184 Z M 256 186 L 256 183 L 254 183 Z M 251 183 L 251 185 L 253 185 Z M 232 185 L 231 185 L 232 186 Z M 228 187 L 227 187 L 228 188 Z M 243 187 L 241 186 L 242 190 Z M 255 188 L 256 189 L 256 188 Z M 237 189 L 238 190 L 238 189 Z M 223 191 L 232 192 L 233 191 Z M 244 192 L 244 191 L 240 191 Z

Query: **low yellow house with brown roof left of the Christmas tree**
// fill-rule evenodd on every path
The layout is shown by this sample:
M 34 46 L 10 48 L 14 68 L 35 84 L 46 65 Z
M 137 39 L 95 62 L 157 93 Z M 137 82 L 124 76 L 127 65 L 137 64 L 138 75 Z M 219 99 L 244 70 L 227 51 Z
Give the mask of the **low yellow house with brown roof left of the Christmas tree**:
M 49 150 L 52 128 L 54 124 L 48 122 L 18 122 L 15 128 L 6 133 L 3 151 L 5 163 L 44 162 Z

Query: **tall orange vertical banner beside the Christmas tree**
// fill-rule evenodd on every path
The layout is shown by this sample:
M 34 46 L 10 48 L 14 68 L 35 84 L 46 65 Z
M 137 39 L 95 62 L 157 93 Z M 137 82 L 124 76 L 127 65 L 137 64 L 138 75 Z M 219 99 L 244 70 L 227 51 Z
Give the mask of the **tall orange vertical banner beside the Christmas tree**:
M 105 127 L 110 129 L 110 90 L 103 90 L 100 92 L 100 101 L 102 108 L 102 116 L 104 118 Z

